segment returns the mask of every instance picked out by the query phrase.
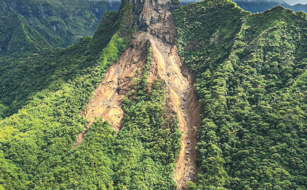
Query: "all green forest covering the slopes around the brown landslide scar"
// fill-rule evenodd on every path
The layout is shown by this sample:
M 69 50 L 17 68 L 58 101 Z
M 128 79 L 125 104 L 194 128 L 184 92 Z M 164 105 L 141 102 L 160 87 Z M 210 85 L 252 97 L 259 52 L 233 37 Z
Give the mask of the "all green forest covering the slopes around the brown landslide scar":
M 87 125 L 81 111 L 131 45 L 139 3 L 124 0 L 118 13 L 104 15 L 93 37 L 52 49 L 73 43 L 77 34 L 31 26 L 45 20 L 66 32 L 82 31 L 76 23 L 95 22 L 86 7 L 93 2 L 29 2 L 9 4 L 9 14 L 0 15 L 6 53 L 0 56 L 0 189 L 177 189 L 173 171 L 181 132 L 166 106 L 164 81 L 148 86 L 149 41 L 122 103 L 121 131 L 96 118 L 72 149 Z M 51 9 L 41 11 L 40 5 Z M 61 18 L 53 12 L 58 9 L 67 9 Z M 70 15 L 73 9 L 80 11 Z M 0 10 L 6 10 L 3 3 Z M 75 14 L 82 16 L 70 23 Z M 282 7 L 251 14 L 228 0 L 208 0 L 173 15 L 179 53 L 203 104 L 200 171 L 189 189 L 306 190 L 307 14 Z

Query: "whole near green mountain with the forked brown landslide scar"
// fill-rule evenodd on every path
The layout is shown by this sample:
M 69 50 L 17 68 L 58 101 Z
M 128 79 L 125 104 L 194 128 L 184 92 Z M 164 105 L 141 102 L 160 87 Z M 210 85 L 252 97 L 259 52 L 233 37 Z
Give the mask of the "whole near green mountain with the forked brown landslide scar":
M 305 23 L 124 0 L 75 45 L 1 55 L 0 189 L 306 190 Z

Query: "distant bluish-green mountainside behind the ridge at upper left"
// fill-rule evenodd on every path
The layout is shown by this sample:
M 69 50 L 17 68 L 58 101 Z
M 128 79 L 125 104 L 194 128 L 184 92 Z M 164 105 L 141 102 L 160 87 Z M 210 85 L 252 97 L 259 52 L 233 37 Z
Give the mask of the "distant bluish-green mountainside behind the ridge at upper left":
M 95 33 L 105 12 L 118 11 L 119 6 L 120 2 L 109 1 L 3 0 L 0 53 L 20 54 L 50 44 L 53 47 L 76 44 L 81 37 Z

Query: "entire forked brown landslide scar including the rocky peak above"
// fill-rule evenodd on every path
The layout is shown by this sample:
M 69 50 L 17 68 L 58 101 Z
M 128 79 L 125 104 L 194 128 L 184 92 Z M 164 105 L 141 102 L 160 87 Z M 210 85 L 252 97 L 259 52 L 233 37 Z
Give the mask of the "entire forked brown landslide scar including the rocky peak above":
M 150 89 L 155 79 L 165 81 L 168 110 L 176 113 L 179 129 L 183 132 L 181 150 L 173 176 L 178 189 L 182 190 L 187 189 L 187 181 L 196 181 L 199 171 L 195 146 L 198 142 L 197 127 L 201 123 L 201 104 L 196 98 L 190 73 L 182 66 L 177 53 L 173 17 L 169 11 L 159 9 L 159 1 L 156 3 L 145 1 L 140 20 L 140 30 L 144 32 L 135 34 L 133 48 L 127 49 L 107 70 L 104 80 L 82 113 L 87 119 L 87 126 L 78 135 L 72 148 L 82 143 L 86 130 L 95 117 L 107 120 L 115 130 L 120 131 L 124 116 L 120 105 L 125 94 L 134 85 L 132 79 L 136 77 L 137 69 L 142 69 L 145 65 L 146 44 L 149 40 L 153 59 L 148 76 L 148 88 Z

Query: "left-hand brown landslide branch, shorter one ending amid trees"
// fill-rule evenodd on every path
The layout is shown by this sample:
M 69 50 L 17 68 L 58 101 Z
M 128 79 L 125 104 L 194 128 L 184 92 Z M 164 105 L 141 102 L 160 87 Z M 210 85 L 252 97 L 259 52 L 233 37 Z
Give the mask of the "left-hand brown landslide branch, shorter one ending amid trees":
M 83 132 L 79 133 L 72 148 L 82 143 L 86 130 L 90 128 L 96 117 L 101 117 L 102 121 L 108 121 L 113 129 L 119 132 L 124 117 L 124 111 L 120 105 L 133 85 L 132 79 L 136 77 L 137 69 L 142 69 L 144 66 L 147 40 L 145 35 L 136 35 L 133 41 L 134 48 L 125 50 L 119 60 L 108 68 L 103 81 L 94 91 L 93 98 L 81 113 L 86 117 L 87 126 Z

